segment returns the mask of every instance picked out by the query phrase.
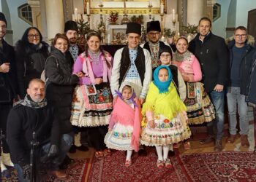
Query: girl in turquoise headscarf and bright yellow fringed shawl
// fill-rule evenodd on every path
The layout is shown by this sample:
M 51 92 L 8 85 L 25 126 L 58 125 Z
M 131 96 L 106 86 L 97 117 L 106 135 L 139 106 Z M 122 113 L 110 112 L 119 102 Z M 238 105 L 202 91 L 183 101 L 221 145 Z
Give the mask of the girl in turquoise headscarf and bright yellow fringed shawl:
M 142 110 L 144 118 L 140 143 L 156 146 L 159 168 L 172 167 L 170 159 L 167 159 L 170 146 L 191 135 L 186 123 L 187 108 L 179 98 L 172 79 L 168 66 L 156 68 Z

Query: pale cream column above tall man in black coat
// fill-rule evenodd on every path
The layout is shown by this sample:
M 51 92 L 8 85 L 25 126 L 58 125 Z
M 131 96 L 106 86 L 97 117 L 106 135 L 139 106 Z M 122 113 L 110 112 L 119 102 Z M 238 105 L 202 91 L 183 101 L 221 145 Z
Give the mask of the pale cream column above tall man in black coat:
M 198 25 L 201 17 L 203 17 L 203 0 L 187 1 L 187 23 L 189 25 Z

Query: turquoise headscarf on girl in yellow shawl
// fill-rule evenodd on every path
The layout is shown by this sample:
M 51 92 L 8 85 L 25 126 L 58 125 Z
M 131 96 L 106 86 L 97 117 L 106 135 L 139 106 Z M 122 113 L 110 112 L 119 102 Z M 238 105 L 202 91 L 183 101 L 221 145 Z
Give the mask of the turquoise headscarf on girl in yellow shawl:
M 165 82 L 159 81 L 158 74 L 159 70 L 162 68 L 166 68 L 168 71 L 168 79 Z M 159 89 L 159 93 L 165 93 L 168 91 L 168 87 L 170 86 L 170 82 L 172 82 L 173 74 L 170 72 L 170 68 L 168 66 L 158 66 L 154 71 L 154 84 Z

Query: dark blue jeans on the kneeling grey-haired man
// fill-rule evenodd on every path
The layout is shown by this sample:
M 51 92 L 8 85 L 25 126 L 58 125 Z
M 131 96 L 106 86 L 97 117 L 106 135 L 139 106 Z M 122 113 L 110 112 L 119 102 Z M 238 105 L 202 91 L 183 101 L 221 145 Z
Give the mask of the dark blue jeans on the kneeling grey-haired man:
M 57 169 L 59 165 L 61 165 L 61 162 L 64 161 L 64 158 L 66 157 L 67 152 L 69 151 L 70 147 L 72 146 L 73 143 L 73 136 L 72 133 L 64 134 L 62 135 L 61 138 L 61 143 L 59 146 L 59 154 L 58 157 L 53 159 L 51 163 L 53 163 L 53 168 Z M 45 155 L 48 154 L 48 151 L 50 149 L 50 143 L 46 143 L 39 149 L 39 158 L 40 162 L 42 162 L 42 157 L 45 157 Z M 35 159 L 37 161 L 37 159 Z M 22 167 L 18 164 L 14 164 L 15 169 L 17 170 L 18 173 L 18 178 L 20 182 L 29 182 L 30 180 L 24 179 L 23 178 L 23 170 Z

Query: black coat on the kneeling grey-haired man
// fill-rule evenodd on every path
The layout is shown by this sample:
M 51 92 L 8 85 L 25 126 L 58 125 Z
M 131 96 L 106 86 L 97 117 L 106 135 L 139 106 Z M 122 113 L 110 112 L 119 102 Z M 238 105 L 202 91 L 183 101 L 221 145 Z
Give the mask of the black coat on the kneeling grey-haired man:
M 34 131 L 39 146 L 48 142 L 59 146 L 61 140 L 59 121 L 50 103 L 43 108 L 18 104 L 11 109 L 7 119 L 7 143 L 13 163 L 21 166 L 29 164 Z

